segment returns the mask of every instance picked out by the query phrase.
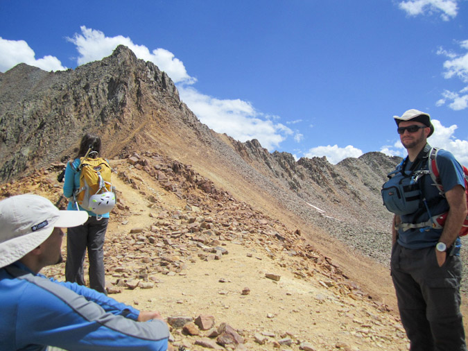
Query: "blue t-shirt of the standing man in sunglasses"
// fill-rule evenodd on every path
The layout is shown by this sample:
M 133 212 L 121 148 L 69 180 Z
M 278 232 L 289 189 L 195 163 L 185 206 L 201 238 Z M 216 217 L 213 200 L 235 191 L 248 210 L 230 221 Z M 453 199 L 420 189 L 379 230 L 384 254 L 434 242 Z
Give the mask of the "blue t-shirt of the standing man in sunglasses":
M 449 151 L 442 149 L 438 151 L 437 166 L 444 191 L 449 191 L 456 185 L 461 185 L 465 188 L 465 176 L 462 166 L 460 166 L 458 161 Z M 405 169 L 408 170 L 410 167 L 410 162 L 407 162 Z M 427 160 L 424 159 L 418 167 L 418 170 L 427 168 Z M 440 196 L 439 190 L 435 185 L 433 185 L 433 180 L 430 174 L 422 176 L 418 182 L 419 188 L 422 191 L 422 196 L 423 198 L 426 198 L 426 203 L 428 204 L 431 215 L 429 215 L 427 209 L 422 205 L 422 209 L 413 214 L 401 215 L 402 223 L 426 222 L 431 218 L 431 216 L 444 214 L 449 211 L 449 203 L 447 202 L 447 199 Z M 442 229 L 424 228 L 424 230 L 420 230 L 419 228 L 415 228 L 404 231 L 400 228 L 398 230 L 398 243 L 405 248 L 427 248 L 435 246 L 441 235 Z M 456 246 L 459 246 L 459 244 L 460 238 L 457 239 Z

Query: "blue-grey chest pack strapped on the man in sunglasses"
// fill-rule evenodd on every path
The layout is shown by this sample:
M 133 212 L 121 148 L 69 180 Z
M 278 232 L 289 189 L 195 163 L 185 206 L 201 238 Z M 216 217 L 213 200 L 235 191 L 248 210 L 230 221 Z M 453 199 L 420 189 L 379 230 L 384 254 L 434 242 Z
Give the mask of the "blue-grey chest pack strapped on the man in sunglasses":
M 424 199 L 418 180 L 428 174 L 428 170 L 419 170 L 421 164 L 426 164 L 430 146 L 417 155 L 415 162 L 406 170 L 408 157 L 404 159 L 395 171 L 388 173 L 390 178 L 382 187 L 383 205 L 397 215 L 413 214 L 424 207 Z

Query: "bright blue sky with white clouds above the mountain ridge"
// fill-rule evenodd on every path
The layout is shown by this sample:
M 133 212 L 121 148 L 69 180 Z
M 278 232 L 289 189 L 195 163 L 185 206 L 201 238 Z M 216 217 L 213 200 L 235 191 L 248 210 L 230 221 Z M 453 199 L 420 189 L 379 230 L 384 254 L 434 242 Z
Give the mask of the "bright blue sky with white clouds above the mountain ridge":
M 468 165 L 467 0 L 0 0 L 0 71 L 101 60 L 119 44 L 202 123 L 272 151 L 406 155 L 392 116 Z

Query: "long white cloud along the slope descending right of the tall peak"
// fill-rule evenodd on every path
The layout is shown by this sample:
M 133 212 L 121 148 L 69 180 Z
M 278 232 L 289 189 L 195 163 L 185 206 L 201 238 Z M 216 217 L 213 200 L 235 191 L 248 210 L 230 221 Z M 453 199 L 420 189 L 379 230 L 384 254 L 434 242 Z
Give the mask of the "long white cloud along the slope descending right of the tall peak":
M 202 123 L 241 142 L 257 139 L 261 146 L 273 151 L 286 137 L 293 135 L 293 130 L 283 124 L 262 118 L 262 114 L 248 102 L 216 99 L 187 85 L 180 85 L 177 89 L 182 101 Z

